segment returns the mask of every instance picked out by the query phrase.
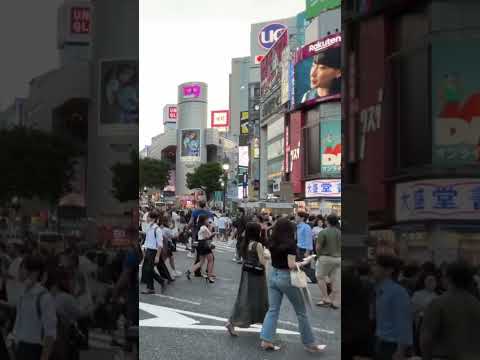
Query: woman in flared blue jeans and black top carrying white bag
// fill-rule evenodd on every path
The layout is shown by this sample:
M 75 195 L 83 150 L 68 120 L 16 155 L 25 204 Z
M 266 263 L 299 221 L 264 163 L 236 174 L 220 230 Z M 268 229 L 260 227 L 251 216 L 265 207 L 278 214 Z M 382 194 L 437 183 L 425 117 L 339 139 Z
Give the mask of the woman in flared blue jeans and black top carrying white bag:
M 290 271 L 296 271 L 297 265 L 301 267 L 306 264 L 306 262 L 295 262 L 297 254 L 295 231 L 295 224 L 287 218 L 282 218 L 273 227 L 270 237 L 269 249 L 272 258 L 272 270 L 268 278 L 269 309 L 265 315 L 260 333 L 261 347 L 264 350 L 280 350 L 279 346 L 273 344 L 273 337 L 277 331 L 283 295 L 286 295 L 297 314 L 298 327 L 305 350 L 318 353 L 325 346 L 315 343 L 312 326 L 308 319 L 305 298 L 302 291 L 292 286 L 290 281 Z

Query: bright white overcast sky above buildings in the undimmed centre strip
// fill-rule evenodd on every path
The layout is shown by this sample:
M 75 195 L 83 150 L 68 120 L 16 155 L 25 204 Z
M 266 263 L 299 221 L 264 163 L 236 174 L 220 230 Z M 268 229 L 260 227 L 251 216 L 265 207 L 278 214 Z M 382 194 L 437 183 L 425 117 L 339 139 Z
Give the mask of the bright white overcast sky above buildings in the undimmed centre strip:
M 231 59 L 250 55 L 250 24 L 303 10 L 305 0 L 140 1 L 140 147 L 162 131 L 183 82 L 206 82 L 209 110 L 228 108 Z

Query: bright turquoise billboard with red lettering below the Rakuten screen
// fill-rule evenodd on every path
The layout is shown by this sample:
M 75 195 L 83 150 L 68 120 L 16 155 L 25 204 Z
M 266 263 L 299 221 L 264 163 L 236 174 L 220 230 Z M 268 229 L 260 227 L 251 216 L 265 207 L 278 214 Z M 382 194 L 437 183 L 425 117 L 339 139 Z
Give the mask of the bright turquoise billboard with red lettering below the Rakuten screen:
M 340 118 L 326 118 L 320 122 L 321 175 L 326 178 L 341 176 L 342 131 Z

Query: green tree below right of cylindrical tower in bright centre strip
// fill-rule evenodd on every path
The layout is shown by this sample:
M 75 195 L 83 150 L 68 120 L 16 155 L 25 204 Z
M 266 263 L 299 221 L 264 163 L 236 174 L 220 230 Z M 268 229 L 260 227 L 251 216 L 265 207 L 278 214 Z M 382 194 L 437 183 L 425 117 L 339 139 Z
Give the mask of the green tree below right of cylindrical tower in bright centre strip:
M 189 189 L 202 189 L 210 198 L 215 191 L 223 190 L 220 184 L 222 176 L 223 169 L 220 163 L 202 164 L 193 173 L 187 174 L 187 186 Z

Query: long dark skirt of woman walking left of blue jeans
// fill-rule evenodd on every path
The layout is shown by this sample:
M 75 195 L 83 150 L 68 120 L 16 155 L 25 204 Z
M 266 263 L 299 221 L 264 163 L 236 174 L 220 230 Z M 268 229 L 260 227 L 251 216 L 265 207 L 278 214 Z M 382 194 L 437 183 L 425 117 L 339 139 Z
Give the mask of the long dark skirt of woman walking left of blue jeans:
M 248 328 L 261 324 L 268 311 L 268 289 L 265 274 L 242 271 L 237 299 L 229 321 L 233 326 Z

